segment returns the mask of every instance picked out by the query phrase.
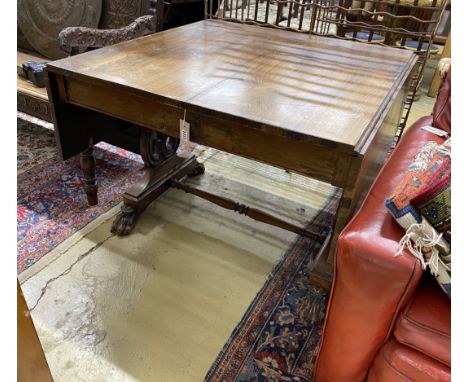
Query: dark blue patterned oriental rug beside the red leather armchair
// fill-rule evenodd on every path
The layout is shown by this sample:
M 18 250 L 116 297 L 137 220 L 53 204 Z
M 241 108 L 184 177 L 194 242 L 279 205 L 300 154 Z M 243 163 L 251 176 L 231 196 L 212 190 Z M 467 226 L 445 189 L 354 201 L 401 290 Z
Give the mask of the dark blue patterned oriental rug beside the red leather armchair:
M 325 232 L 341 191 L 310 227 Z M 312 382 L 328 294 L 308 270 L 320 245 L 298 238 L 268 277 L 205 377 L 206 382 Z

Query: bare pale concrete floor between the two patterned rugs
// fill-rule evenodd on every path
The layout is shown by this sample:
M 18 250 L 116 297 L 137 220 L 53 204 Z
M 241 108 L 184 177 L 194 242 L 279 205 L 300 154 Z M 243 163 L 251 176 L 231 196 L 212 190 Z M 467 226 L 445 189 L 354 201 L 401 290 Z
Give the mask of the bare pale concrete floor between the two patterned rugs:
M 305 224 L 332 187 L 207 150 L 192 181 Z M 169 190 L 118 238 L 104 222 L 22 284 L 60 381 L 202 381 L 295 234 Z

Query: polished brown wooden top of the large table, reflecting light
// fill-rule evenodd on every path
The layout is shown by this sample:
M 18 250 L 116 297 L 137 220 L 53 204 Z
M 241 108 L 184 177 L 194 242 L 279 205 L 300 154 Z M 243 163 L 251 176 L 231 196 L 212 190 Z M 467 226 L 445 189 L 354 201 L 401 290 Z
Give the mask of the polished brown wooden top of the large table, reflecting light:
M 204 20 L 54 61 L 48 70 L 359 150 L 415 60 L 406 50 Z

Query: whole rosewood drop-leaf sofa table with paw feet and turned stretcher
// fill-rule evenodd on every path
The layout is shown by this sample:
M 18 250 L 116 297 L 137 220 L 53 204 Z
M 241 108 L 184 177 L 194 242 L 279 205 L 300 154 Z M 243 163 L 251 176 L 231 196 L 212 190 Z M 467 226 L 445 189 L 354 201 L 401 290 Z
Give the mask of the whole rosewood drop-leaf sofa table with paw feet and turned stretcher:
M 406 50 L 204 20 L 49 63 L 47 88 L 61 158 L 81 154 L 89 204 L 97 203 L 95 143 L 142 154 L 148 170 L 124 195 L 118 234 L 173 186 L 323 241 L 185 186 L 185 176 L 203 172 L 176 155 L 189 124 L 192 142 L 341 187 L 331 264 L 391 147 L 415 62 Z

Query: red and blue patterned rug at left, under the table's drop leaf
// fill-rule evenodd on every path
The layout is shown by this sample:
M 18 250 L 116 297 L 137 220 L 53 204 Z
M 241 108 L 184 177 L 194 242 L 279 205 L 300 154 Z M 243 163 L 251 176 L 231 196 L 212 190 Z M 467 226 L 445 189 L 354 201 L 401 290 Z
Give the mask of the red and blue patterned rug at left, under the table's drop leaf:
M 79 158 L 59 160 L 50 124 L 17 121 L 19 275 L 117 206 L 125 190 L 141 176 L 142 161 L 136 154 L 98 144 L 99 204 L 88 207 Z

